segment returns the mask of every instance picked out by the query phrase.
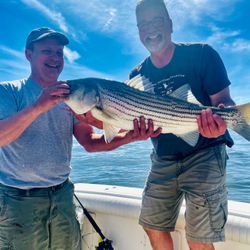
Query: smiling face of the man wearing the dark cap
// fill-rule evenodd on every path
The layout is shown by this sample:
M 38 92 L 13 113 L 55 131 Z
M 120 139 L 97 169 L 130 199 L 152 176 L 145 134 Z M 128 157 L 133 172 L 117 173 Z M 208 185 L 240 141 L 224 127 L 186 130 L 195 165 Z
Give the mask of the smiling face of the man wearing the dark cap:
M 31 65 L 31 77 L 43 86 L 55 83 L 63 70 L 64 46 L 57 39 L 46 38 L 26 49 L 26 58 Z

